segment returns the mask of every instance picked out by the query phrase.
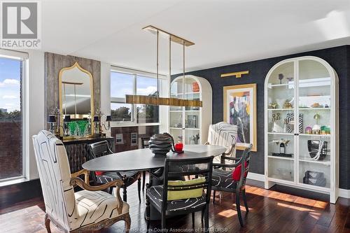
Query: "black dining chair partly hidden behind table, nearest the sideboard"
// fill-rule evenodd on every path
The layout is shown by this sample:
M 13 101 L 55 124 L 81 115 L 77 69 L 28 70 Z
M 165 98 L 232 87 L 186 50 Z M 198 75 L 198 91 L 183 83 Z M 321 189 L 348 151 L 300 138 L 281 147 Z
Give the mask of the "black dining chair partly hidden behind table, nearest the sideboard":
M 99 141 L 89 145 L 90 159 L 101 157 L 104 155 L 111 155 L 113 151 L 109 148 L 108 141 Z M 139 202 L 141 203 L 141 172 L 140 171 L 111 171 L 104 172 L 97 175 L 95 172 L 92 173 L 92 178 L 96 183 L 109 183 L 117 179 L 121 179 L 123 184 L 123 201 L 127 202 L 127 187 L 132 185 L 134 182 L 137 183 L 137 190 L 139 192 Z M 110 190 L 110 193 L 112 190 Z

